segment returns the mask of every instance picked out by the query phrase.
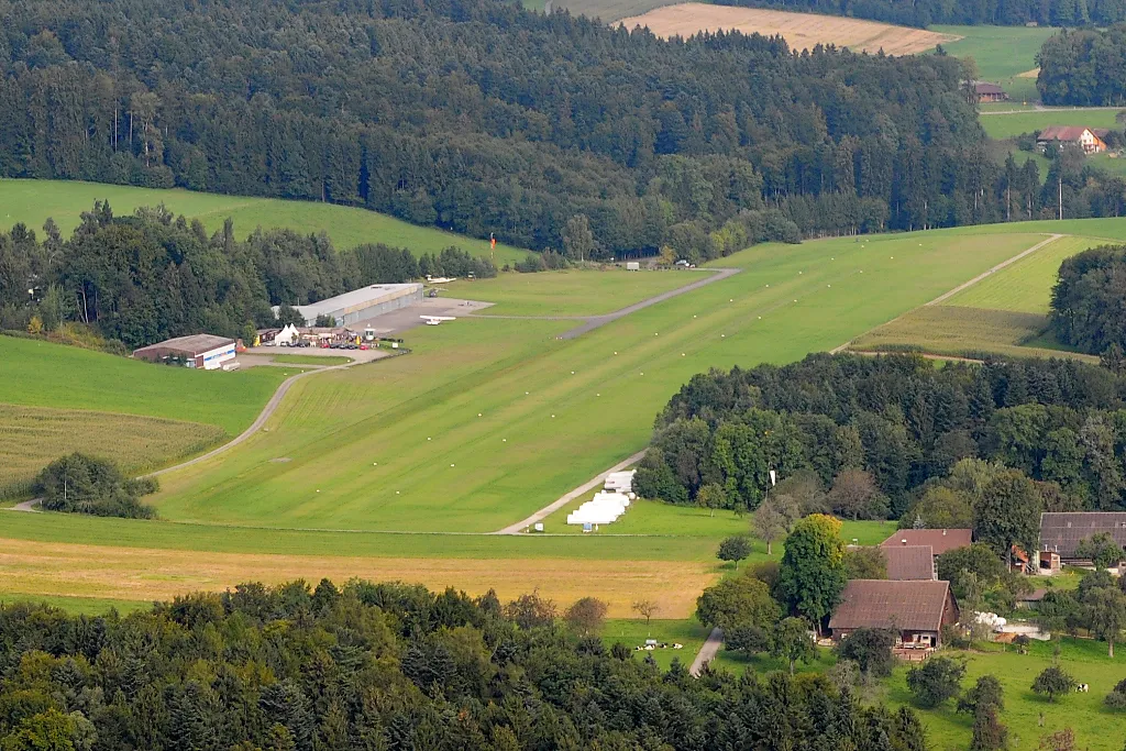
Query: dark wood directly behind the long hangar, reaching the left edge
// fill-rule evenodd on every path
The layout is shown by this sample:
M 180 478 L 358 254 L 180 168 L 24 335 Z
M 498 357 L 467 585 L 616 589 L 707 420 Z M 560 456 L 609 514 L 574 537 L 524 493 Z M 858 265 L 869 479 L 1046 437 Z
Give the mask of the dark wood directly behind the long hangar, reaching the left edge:
M 163 207 L 115 217 L 98 203 L 69 240 L 50 220 L 44 231 L 42 241 L 23 224 L 0 234 L 0 329 L 41 333 L 73 322 L 131 348 L 200 331 L 250 341 L 256 327 L 275 323 L 271 305 L 425 274 L 497 274 L 456 248 L 420 258 L 382 244 L 337 253 L 327 235 L 289 230 L 258 229 L 240 241 L 230 221 L 208 236 L 198 220 Z

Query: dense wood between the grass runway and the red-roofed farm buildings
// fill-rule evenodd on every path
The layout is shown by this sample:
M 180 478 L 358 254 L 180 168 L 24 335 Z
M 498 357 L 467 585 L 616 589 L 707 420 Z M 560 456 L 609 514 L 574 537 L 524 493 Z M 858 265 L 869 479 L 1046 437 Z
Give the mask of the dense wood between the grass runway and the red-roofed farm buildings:
M 658 418 L 634 486 L 673 503 L 754 509 L 775 470 L 808 486 L 789 491 L 805 513 L 956 527 L 950 519 L 975 516 L 980 488 L 1008 468 L 1018 475 L 1008 490 L 1035 515 L 1124 510 L 1124 393 L 1112 372 L 1073 360 L 935 368 L 915 356 L 811 355 L 714 370 Z

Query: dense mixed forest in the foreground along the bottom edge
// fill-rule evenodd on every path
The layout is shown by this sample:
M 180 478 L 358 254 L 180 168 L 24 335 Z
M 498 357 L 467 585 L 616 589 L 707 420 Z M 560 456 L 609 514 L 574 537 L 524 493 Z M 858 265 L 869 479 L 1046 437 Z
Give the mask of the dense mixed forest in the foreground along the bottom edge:
M 0 606 L 5 751 L 923 751 L 821 676 L 699 680 L 536 596 L 244 584 L 120 618 Z M 589 624 L 588 624 L 589 625 Z

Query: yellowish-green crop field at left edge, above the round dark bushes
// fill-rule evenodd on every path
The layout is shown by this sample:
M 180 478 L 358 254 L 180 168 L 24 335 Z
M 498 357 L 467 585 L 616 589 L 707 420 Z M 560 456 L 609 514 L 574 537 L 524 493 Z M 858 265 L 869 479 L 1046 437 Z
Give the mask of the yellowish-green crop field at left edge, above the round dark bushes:
M 24 492 L 45 465 L 72 452 L 144 472 L 214 446 L 217 426 L 135 414 L 0 403 L 0 498 Z

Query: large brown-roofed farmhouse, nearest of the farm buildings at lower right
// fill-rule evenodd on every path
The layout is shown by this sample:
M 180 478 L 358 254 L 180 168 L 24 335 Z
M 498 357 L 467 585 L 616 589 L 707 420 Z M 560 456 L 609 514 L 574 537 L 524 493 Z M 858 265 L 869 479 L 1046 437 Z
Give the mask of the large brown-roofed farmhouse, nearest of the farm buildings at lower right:
M 841 593 L 829 628 L 833 640 L 857 628 L 891 628 L 896 646 L 930 649 L 941 645 L 942 626 L 958 620 L 948 581 L 886 581 L 854 579 Z

